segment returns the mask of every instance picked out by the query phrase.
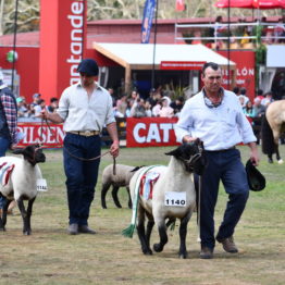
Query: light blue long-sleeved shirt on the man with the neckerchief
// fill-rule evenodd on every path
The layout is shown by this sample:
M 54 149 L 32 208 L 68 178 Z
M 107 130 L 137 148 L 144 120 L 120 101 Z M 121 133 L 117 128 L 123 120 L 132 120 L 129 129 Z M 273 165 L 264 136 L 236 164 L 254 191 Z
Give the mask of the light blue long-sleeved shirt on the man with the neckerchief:
M 237 96 L 227 90 L 216 108 L 206 106 L 202 91 L 188 99 L 174 131 L 178 141 L 186 135 L 200 138 L 206 150 L 223 150 L 257 140 Z

